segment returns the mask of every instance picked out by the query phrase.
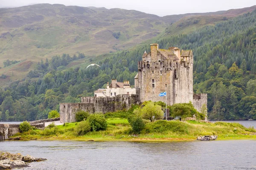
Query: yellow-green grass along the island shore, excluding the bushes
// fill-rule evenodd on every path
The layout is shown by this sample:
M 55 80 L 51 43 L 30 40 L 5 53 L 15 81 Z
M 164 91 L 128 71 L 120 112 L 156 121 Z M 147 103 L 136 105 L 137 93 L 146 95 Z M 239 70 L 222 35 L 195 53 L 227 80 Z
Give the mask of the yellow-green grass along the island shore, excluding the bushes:
M 199 121 L 156 121 L 147 123 L 139 134 L 133 134 L 125 118 L 108 118 L 104 131 L 92 131 L 77 136 L 78 122 L 66 123 L 45 130 L 17 133 L 21 140 L 76 140 L 76 141 L 194 141 L 200 135 L 218 135 L 218 140 L 254 139 L 256 130 L 237 123 L 202 123 Z

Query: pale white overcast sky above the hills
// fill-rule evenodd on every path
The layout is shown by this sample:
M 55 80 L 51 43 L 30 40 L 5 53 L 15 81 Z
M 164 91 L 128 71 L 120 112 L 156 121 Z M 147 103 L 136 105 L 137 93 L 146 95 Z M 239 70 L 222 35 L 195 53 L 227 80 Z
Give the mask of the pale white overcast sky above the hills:
M 165 16 L 250 7 L 256 5 L 256 0 L 0 0 L 0 8 L 27 6 L 37 3 L 95 6 L 107 9 L 134 9 L 148 14 Z

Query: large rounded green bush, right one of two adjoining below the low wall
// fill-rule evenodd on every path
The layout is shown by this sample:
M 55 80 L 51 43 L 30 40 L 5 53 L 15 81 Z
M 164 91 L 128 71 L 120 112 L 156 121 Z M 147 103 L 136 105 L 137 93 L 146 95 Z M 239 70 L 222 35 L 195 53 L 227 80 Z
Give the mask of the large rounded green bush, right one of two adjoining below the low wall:
M 87 120 L 89 121 L 91 130 L 93 131 L 107 129 L 107 121 L 102 114 L 92 114 L 87 118 Z

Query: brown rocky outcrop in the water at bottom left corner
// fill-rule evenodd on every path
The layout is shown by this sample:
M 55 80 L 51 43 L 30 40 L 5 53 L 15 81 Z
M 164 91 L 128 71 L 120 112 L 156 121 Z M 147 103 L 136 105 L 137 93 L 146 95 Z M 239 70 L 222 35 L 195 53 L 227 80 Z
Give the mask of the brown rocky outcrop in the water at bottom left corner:
M 23 156 L 20 153 L 8 153 L 0 151 L 0 170 L 29 167 L 30 162 L 45 161 L 45 158 L 34 158 L 30 155 Z

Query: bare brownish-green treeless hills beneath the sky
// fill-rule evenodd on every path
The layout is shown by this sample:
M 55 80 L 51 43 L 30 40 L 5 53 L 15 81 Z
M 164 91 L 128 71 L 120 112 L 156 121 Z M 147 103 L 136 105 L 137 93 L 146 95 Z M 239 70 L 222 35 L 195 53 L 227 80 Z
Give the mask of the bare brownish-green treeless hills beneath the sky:
M 130 49 L 153 37 L 158 39 L 167 27 L 169 34 L 189 33 L 255 8 L 165 17 L 134 10 L 61 4 L 0 9 L 0 67 L 7 59 L 20 61 L 0 69 L 0 75 L 8 77 L 0 85 L 24 78 L 38 61 L 54 55 L 73 56 L 80 52 L 93 58 Z

